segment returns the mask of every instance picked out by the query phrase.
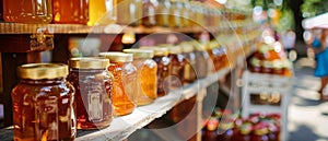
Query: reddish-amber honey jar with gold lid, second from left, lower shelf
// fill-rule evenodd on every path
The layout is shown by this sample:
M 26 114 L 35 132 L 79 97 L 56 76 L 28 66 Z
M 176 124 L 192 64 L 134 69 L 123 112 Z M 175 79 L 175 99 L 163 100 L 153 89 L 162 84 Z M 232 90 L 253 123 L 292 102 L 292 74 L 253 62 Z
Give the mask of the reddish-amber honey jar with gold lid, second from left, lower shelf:
M 113 120 L 110 93 L 113 75 L 108 59 L 71 58 L 67 80 L 75 89 L 77 128 L 99 129 Z

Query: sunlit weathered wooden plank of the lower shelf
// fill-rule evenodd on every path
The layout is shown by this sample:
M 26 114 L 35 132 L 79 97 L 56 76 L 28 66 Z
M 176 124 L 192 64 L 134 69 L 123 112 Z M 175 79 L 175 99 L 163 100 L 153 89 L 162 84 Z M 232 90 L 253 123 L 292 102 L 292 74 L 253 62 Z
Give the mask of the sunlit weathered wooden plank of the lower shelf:
M 230 72 L 230 68 L 224 68 L 221 71 L 208 75 L 206 79 L 198 80 L 192 84 L 183 86 L 181 89 L 175 90 L 169 94 L 155 99 L 154 103 L 145 106 L 140 106 L 134 111 L 127 116 L 116 117 L 113 119 L 112 125 L 108 128 L 99 130 L 79 130 L 77 141 L 89 141 L 89 140 L 124 140 L 127 139 L 137 129 L 140 129 L 154 119 L 166 114 L 176 104 L 184 99 L 188 99 L 203 87 L 214 83 L 219 78 Z M 201 95 L 204 96 L 204 95 Z M 2 129 L 0 132 L 0 140 L 12 140 L 12 128 Z

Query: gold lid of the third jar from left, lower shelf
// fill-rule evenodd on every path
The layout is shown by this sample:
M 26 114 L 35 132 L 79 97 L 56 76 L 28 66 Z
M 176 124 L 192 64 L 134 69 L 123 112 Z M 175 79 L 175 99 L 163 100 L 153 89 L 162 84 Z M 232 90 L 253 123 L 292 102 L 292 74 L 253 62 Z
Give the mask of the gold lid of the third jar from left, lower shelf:
M 120 51 L 99 52 L 101 57 L 107 58 L 110 62 L 131 62 L 133 61 L 133 54 L 125 54 Z

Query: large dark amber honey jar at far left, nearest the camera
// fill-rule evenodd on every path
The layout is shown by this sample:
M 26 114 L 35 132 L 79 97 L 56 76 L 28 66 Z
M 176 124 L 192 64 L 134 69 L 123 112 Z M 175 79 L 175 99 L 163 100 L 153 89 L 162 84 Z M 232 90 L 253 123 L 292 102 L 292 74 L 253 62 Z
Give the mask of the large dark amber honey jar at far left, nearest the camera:
M 30 63 L 17 68 L 13 87 L 13 140 L 74 140 L 74 87 L 66 80 L 68 66 Z

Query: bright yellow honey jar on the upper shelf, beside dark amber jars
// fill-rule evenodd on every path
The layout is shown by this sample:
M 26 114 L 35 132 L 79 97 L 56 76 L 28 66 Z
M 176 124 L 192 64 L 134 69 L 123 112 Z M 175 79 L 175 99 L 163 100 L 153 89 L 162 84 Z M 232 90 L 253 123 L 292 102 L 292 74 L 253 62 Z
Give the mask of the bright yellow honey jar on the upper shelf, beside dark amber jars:
M 116 23 L 116 0 L 90 0 L 87 25 L 107 25 Z

